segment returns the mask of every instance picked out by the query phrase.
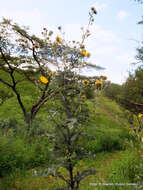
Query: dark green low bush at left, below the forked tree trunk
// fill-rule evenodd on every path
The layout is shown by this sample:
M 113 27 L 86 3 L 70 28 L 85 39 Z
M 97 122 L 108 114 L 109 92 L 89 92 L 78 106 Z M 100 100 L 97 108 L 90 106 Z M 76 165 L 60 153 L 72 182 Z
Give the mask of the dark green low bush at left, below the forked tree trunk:
M 48 164 L 50 159 L 46 140 L 28 143 L 18 137 L 6 136 L 0 137 L 0 155 L 0 176 L 6 176 L 17 169 Z

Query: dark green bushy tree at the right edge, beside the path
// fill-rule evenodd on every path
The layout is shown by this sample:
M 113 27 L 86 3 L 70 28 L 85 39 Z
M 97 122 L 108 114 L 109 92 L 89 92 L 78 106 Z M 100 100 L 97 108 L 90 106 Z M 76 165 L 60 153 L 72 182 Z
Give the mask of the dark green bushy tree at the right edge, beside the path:
M 143 139 L 143 69 L 138 68 L 130 74 L 126 82 L 120 87 L 117 102 L 125 109 L 130 123 L 131 133 L 137 142 Z M 128 112 L 127 112 L 128 110 Z

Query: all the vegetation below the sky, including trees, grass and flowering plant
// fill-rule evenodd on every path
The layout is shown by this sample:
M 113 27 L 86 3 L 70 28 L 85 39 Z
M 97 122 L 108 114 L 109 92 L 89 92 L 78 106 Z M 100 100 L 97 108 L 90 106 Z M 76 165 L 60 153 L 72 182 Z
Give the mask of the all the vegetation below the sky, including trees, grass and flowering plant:
M 91 8 L 82 42 L 72 45 L 52 41 L 46 28 L 39 38 L 0 23 L 0 190 L 141 187 L 142 67 L 123 85 L 76 72 L 97 68 L 84 46 L 96 14 Z

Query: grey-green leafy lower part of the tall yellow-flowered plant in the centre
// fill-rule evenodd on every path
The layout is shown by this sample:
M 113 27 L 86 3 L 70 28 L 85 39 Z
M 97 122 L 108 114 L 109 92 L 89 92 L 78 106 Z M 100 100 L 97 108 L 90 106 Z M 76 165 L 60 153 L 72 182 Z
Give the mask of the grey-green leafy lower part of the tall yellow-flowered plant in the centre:
M 84 128 L 89 123 L 89 110 L 83 86 L 88 86 L 89 83 L 87 79 L 81 80 L 70 68 L 65 68 L 57 74 L 57 87 L 60 93 L 55 97 L 56 106 L 49 113 L 52 126 L 55 127 L 51 141 L 54 142 L 52 155 L 56 165 L 49 174 L 64 180 L 67 190 L 78 190 L 80 182 L 85 177 L 96 174 L 94 169 L 75 172 L 80 160 L 95 156 L 85 151 L 82 145 L 82 141 L 88 136 Z M 65 177 L 61 168 L 68 177 Z

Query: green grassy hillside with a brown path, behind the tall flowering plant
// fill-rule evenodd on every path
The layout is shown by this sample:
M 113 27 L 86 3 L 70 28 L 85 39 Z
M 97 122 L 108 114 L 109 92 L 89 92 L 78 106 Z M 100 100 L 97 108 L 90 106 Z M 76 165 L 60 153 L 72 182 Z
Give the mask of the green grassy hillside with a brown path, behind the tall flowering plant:
M 2 75 L 6 80 L 10 80 L 4 73 Z M 17 78 L 20 79 L 20 76 Z M 18 89 L 26 109 L 29 110 L 38 98 L 35 87 L 23 82 Z M 10 88 L 1 83 L 0 90 L 12 93 Z M 80 189 L 124 190 L 126 187 L 92 186 L 90 183 L 136 182 L 135 166 L 139 163 L 139 158 L 130 144 L 133 137 L 129 133 L 126 113 L 116 102 L 101 94 L 96 100 L 86 100 L 86 103 L 90 110 L 90 121 L 84 130 L 89 137 L 81 139 L 79 143 L 96 156 L 94 159 L 83 159 L 76 168 L 81 171 L 94 168 L 97 174 L 82 181 Z M 52 176 L 32 176 L 34 171 L 42 170 L 52 163 L 50 142 L 46 136 L 37 134 L 42 135 L 52 128 L 46 109 L 53 105 L 54 102 L 49 102 L 38 113 L 33 124 L 35 136 L 30 143 L 22 132 L 25 124 L 15 95 L 0 106 L 0 175 L 4 175 L 0 179 L 0 190 L 54 190 L 63 184 L 60 179 Z M 66 177 L 64 168 L 60 170 Z

